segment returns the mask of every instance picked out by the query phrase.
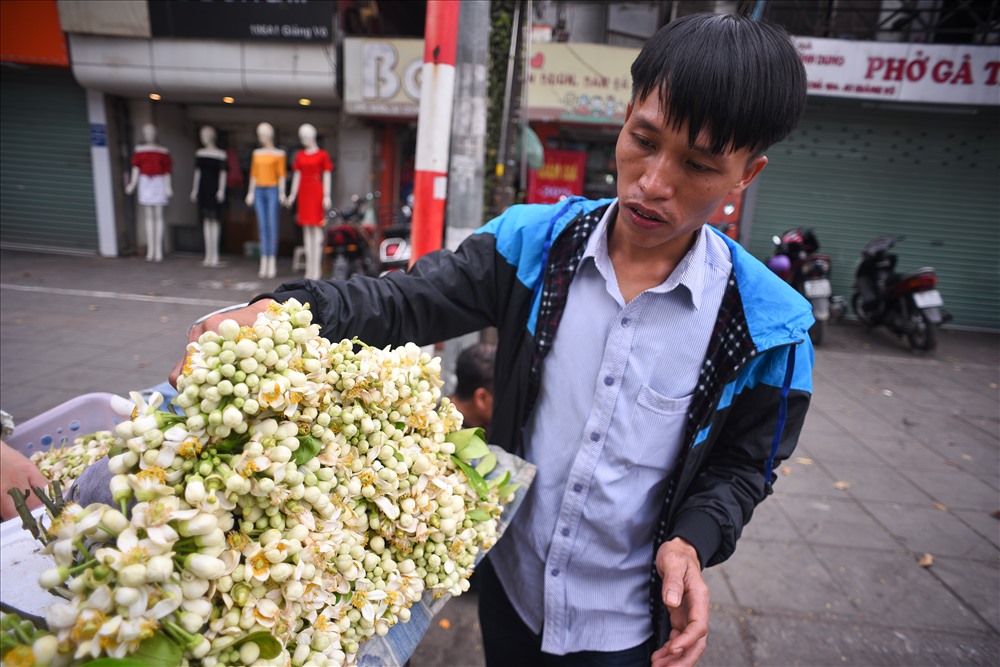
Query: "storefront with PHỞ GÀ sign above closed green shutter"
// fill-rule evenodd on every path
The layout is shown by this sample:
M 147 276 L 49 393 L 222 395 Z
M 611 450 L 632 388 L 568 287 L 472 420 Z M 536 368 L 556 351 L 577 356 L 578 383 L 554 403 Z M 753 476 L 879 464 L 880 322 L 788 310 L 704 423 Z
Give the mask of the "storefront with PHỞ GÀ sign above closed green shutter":
M 898 234 L 898 268 L 937 269 L 952 326 L 1000 329 L 1000 50 L 799 39 L 810 95 L 770 151 L 744 240 L 812 227 L 848 300 L 855 262 Z

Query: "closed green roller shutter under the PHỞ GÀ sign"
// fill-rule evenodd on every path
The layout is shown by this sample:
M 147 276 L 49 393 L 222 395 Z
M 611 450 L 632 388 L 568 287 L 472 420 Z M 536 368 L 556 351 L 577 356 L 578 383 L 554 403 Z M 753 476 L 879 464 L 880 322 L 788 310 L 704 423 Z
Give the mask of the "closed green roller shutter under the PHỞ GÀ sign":
M 768 151 L 750 251 L 766 258 L 773 235 L 813 227 L 849 301 L 864 245 L 902 234 L 897 267 L 937 269 L 953 325 L 1000 329 L 1000 109 L 962 110 L 810 98 Z

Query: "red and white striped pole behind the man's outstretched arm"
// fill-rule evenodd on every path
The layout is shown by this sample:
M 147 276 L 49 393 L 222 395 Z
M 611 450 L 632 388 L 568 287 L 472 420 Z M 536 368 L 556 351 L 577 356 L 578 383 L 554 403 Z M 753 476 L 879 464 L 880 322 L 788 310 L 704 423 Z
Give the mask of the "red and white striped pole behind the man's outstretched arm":
M 410 264 L 441 247 L 448 194 L 459 0 L 428 0 L 414 160 Z

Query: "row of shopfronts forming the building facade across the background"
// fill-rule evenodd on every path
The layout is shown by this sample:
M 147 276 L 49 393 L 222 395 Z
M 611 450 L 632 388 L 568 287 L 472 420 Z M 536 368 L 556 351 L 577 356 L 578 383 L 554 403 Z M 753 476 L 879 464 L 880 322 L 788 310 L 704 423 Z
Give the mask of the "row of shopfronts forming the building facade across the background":
M 109 256 L 143 247 L 123 187 L 145 123 L 174 158 L 174 252 L 200 251 L 188 195 L 202 125 L 216 128 L 233 165 L 223 252 L 256 239 L 243 197 L 260 122 L 275 127 L 289 160 L 298 126 L 317 127 L 335 165 L 335 206 L 377 190 L 388 225 L 412 191 L 424 3 L 24 4 L 46 2 L 59 23 L 52 28 L 50 12 L 46 43 L 58 52 L 63 39 L 65 49 L 52 62 L 11 57 L 6 12 L 18 3 L 3 3 L 5 247 Z M 807 111 L 755 185 L 710 222 L 761 258 L 772 235 L 813 227 L 845 296 L 865 243 L 903 234 L 900 267 L 938 269 L 953 325 L 1000 329 L 1000 0 L 534 0 L 520 9 L 520 115 L 544 149 L 540 168 L 520 175 L 525 201 L 613 196 L 642 43 L 684 14 L 750 11 L 795 36 Z M 280 230 L 279 254 L 290 255 L 293 212 Z

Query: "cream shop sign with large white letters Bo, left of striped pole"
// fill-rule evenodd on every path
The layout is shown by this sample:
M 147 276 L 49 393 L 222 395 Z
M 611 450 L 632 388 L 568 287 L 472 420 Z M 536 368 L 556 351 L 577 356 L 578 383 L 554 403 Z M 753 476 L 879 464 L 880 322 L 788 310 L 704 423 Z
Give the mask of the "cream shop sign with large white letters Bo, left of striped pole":
M 358 116 L 416 118 L 422 39 L 344 40 L 344 108 Z

